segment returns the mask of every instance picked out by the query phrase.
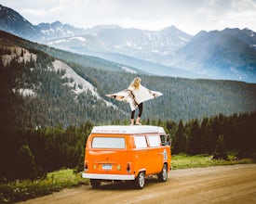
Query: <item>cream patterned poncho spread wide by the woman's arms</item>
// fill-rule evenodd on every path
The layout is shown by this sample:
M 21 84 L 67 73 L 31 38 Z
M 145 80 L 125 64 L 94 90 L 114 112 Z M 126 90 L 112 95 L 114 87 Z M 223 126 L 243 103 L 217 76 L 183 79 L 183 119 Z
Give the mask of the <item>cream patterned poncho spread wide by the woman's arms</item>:
M 134 110 L 139 104 L 144 101 L 153 99 L 158 96 L 162 96 L 163 94 L 160 92 L 155 92 L 145 88 L 144 86 L 140 85 L 140 88 L 137 90 L 132 90 L 130 87 L 126 90 L 117 92 L 115 94 L 106 95 L 112 98 L 115 98 L 119 101 L 124 101 L 129 103 L 131 110 Z

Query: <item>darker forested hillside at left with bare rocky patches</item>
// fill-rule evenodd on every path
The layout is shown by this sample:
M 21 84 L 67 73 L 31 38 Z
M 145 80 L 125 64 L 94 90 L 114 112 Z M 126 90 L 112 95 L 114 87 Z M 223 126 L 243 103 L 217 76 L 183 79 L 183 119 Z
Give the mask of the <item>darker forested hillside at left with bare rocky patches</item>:
M 41 52 L 34 54 L 36 62 L 33 58 L 19 62 L 19 56 L 13 53 L 15 57 L 7 66 L 2 63 L 1 125 L 27 128 L 68 126 L 86 120 L 103 121 L 108 114 L 119 115 L 90 93 L 74 99 L 72 87 L 64 84 L 69 79 L 62 78 L 63 71 L 53 70 L 53 58 Z

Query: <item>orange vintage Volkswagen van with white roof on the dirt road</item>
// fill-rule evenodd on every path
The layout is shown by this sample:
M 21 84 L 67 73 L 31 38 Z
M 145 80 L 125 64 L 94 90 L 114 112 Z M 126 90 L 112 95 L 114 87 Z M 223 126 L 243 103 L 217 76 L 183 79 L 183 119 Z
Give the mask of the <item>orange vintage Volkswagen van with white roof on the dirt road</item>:
M 83 178 L 92 187 L 102 181 L 134 181 L 143 188 L 145 176 L 166 182 L 170 147 L 164 128 L 151 125 L 95 126 L 88 136 Z

